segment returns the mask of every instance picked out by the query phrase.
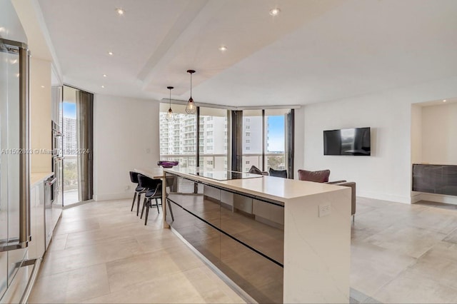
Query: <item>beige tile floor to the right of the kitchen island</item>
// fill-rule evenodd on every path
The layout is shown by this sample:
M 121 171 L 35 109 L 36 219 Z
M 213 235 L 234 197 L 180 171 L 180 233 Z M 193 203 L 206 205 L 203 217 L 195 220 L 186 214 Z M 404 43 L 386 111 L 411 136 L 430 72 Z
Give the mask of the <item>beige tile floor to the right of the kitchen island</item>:
M 457 302 L 457 209 L 436 205 L 357 198 L 353 298 L 362 303 Z

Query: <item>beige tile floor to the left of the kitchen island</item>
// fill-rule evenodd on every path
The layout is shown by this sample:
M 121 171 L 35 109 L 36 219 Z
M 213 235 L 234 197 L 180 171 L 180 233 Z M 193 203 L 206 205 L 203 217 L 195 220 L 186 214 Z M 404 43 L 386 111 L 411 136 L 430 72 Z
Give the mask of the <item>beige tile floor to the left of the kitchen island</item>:
M 131 201 L 64 210 L 29 303 L 245 303 L 179 238 Z

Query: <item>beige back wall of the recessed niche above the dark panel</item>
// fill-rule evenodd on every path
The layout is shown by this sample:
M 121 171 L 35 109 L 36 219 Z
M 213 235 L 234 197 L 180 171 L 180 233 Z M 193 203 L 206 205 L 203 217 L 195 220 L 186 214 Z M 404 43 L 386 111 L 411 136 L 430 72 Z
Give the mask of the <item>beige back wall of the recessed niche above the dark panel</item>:
M 422 162 L 457 165 L 457 103 L 422 108 Z

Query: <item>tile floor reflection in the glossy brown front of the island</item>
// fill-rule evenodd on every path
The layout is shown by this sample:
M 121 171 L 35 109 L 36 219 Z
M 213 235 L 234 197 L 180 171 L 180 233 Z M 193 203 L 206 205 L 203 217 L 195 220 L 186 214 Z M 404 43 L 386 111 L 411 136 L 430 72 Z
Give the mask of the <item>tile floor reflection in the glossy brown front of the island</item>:
M 283 229 L 256 221 L 252 214 L 233 212 L 231 206 L 222 207 L 217 201 L 204 199 L 203 195 L 173 194 L 169 197 L 186 211 L 171 203 L 174 221 L 170 216 L 167 221 L 194 248 L 254 300 L 282 303 L 283 268 L 268 258 L 283 263 Z

